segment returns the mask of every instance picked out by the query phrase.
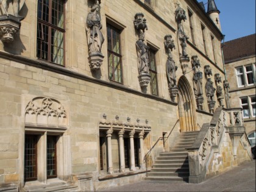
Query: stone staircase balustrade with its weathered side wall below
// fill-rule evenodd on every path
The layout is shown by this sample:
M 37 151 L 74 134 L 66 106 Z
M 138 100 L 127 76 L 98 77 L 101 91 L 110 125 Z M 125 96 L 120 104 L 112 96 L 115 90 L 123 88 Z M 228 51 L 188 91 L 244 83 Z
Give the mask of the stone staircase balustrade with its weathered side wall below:
M 240 142 L 243 148 L 239 148 Z M 238 150 L 250 160 L 249 146 L 243 126 L 242 108 L 217 108 L 210 124 L 203 124 L 195 143 L 188 148 L 189 182 L 200 183 L 207 176 L 218 174 L 230 165 L 229 161 L 233 165 L 237 164 Z

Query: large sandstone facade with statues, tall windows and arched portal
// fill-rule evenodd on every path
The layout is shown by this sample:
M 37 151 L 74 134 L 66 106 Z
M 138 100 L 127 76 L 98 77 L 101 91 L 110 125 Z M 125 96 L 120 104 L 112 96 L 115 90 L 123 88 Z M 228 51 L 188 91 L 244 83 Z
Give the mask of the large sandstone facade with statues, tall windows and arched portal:
M 195 0 L 4 2 L 0 190 L 135 182 L 158 138 L 147 166 L 227 107 L 214 4 L 210 17 Z M 229 154 L 222 169 L 250 159 Z

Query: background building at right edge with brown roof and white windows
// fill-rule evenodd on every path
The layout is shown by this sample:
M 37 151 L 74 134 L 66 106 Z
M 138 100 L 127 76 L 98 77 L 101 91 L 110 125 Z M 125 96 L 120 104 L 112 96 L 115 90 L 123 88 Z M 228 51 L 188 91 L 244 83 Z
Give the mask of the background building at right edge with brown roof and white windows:
M 223 46 L 227 80 L 230 84 L 230 107 L 243 107 L 246 133 L 255 146 L 255 41 L 256 35 L 227 41 Z

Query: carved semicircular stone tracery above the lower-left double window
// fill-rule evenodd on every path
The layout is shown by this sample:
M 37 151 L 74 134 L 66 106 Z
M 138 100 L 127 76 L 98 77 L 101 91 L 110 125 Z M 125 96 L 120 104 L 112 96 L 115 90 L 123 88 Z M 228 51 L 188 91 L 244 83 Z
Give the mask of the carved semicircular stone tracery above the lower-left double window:
M 63 105 L 51 98 L 34 98 L 25 109 L 25 123 L 35 126 L 67 126 Z

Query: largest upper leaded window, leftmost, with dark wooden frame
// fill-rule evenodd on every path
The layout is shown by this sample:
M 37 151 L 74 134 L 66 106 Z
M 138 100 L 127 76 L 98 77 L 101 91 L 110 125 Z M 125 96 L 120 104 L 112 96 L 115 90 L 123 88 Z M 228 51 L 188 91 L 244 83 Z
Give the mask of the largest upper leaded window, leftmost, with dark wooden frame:
M 38 0 L 38 59 L 64 65 L 64 19 L 64 0 Z

